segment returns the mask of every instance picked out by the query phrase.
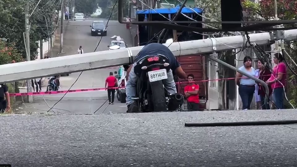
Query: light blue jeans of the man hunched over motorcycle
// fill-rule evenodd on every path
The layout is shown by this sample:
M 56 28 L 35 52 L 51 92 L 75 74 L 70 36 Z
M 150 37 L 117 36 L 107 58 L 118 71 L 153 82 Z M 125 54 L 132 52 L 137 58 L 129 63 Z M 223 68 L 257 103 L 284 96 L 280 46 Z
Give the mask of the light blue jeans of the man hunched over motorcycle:
M 127 105 L 135 103 L 135 101 L 132 98 L 136 97 L 137 80 L 138 80 L 138 76 L 134 72 L 134 64 L 133 64 L 131 71 L 129 73 L 127 84 L 126 84 L 126 95 L 127 95 L 126 104 Z M 168 93 L 170 94 L 177 93 L 171 69 L 170 71 L 167 72 L 167 79 L 165 80 L 164 87 L 167 89 Z

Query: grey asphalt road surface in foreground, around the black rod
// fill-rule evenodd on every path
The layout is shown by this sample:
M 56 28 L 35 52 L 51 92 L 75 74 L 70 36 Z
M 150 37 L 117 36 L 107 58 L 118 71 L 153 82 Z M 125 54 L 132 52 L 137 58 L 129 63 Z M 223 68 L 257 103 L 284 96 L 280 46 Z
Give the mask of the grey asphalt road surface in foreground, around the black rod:
M 184 127 L 296 118 L 294 110 L 0 117 L 0 164 L 297 166 L 297 125 Z

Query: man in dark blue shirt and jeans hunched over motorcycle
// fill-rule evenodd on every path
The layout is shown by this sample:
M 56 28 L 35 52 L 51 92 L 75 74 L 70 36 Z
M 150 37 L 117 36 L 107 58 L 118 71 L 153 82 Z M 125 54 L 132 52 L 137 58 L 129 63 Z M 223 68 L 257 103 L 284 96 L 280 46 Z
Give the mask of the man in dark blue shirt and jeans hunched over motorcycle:
M 134 66 L 136 64 L 135 62 L 137 62 L 140 58 L 143 58 L 144 56 L 156 55 L 156 54 L 164 55 L 169 59 L 170 71 L 167 72 L 168 78 L 164 83 L 164 87 L 167 89 L 168 93 L 170 94 L 177 93 L 175 82 L 173 79 L 173 76 L 175 74 L 181 79 L 187 78 L 186 73 L 183 71 L 179 62 L 176 60 L 176 58 L 171 53 L 170 49 L 167 48 L 167 46 L 163 44 L 158 44 L 158 43 L 151 43 L 149 45 L 145 45 L 137 54 L 136 58 L 134 59 L 134 63 L 127 70 L 126 104 L 128 107 L 128 111 L 127 111 L 128 113 L 138 112 L 138 106 L 136 105 L 136 102 L 132 98 L 136 97 L 136 82 L 139 77 L 136 74 L 140 73 L 141 71 L 136 71 L 134 69 Z

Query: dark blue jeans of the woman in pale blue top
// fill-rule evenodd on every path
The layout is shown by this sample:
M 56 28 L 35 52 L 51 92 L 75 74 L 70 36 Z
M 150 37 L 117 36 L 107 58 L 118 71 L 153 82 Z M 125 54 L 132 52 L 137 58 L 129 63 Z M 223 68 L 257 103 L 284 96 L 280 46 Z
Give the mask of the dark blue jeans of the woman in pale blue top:
M 242 101 L 242 109 L 250 109 L 254 97 L 255 86 L 242 85 L 239 86 L 239 95 Z

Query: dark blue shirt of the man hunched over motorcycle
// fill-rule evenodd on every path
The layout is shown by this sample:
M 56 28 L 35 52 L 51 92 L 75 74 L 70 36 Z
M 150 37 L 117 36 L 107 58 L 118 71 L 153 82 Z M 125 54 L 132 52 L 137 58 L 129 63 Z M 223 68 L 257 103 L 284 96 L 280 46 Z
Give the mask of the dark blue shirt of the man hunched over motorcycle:
M 134 62 L 137 62 L 140 58 L 143 58 L 144 56 L 147 55 L 156 55 L 156 54 L 161 54 L 166 56 L 169 59 L 169 66 L 170 69 L 172 70 L 173 75 L 175 74 L 176 68 L 180 66 L 179 62 L 176 60 L 170 49 L 167 48 L 167 46 L 163 44 L 158 44 L 158 43 L 151 43 L 149 45 L 145 45 L 140 52 L 137 54 L 136 58 L 134 59 Z M 136 71 L 134 69 L 135 74 L 140 73 L 141 71 Z

